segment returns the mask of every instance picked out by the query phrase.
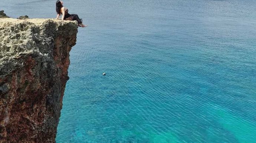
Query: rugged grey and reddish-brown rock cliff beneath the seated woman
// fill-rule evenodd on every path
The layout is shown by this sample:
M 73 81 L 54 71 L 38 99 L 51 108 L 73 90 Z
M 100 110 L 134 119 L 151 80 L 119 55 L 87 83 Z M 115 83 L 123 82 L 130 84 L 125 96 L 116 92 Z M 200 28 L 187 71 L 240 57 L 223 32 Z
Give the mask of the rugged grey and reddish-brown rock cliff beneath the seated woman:
M 77 28 L 0 18 L 0 143 L 55 142 Z

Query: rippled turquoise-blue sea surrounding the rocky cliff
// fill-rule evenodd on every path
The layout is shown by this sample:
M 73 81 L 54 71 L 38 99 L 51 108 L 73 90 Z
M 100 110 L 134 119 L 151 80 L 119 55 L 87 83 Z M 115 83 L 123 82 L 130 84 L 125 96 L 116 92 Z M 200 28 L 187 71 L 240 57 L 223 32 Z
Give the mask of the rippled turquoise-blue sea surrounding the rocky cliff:
M 55 18 L 54 4 L 0 8 Z M 64 5 L 88 27 L 70 52 L 57 143 L 256 143 L 256 1 Z

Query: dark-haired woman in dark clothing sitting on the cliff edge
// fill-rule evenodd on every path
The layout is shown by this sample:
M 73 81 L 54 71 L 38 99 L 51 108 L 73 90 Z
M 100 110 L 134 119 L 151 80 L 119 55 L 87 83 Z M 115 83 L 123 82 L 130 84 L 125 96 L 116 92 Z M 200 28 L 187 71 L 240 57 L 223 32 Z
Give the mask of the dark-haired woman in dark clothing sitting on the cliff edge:
M 66 7 L 63 7 L 63 1 L 57 0 L 56 1 L 56 12 L 57 12 L 57 18 L 59 19 L 60 14 L 62 14 L 62 20 L 76 20 L 78 21 L 79 27 L 87 27 L 87 25 L 82 24 L 82 19 L 78 17 L 77 14 L 69 14 L 68 9 Z

